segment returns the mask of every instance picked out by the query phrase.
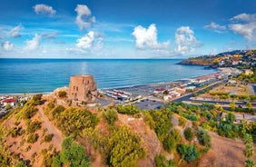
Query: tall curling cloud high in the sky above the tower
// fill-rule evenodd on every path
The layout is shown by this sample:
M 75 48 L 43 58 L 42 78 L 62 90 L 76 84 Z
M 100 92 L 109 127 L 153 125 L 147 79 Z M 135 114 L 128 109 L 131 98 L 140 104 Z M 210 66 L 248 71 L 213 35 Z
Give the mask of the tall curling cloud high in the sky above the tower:
M 81 30 L 90 27 L 96 22 L 95 17 L 91 16 L 91 10 L 87 7 L 87 5 L 76 5 L 74 11 L 77 13 L 75 23 Z

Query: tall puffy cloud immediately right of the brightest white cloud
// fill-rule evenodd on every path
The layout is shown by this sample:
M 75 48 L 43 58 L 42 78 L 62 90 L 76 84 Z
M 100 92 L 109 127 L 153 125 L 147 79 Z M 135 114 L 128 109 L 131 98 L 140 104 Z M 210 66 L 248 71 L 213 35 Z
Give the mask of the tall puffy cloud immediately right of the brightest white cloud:
M 188 54 L 194 51 L 196 47 L 202 44 L 195 38 L 192 29 L 189 26 L 181 26 L 175 33 L 175 52 L 178 54 Z

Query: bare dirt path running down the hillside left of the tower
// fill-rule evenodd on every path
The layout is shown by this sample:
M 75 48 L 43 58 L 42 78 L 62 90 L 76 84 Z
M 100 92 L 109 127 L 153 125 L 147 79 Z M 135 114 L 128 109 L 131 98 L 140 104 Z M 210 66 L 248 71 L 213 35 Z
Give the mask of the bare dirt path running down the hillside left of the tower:
M 54 147 L 56 148 L 57 151 L 62 150 L 62 142 L 63 142 L 63 136 L 60 130 L 58 130 L 55 126 L 54 123 L 51 123 L 47 116 L 45 116 L 44 111 L 43 111 L 43 105 L 38 106 L 38 113 L 39 117 L 42 119 L 44 122 L 45 128 L 48 130 L 48 133 L 54 134 L 53 137 L 53 143 Z

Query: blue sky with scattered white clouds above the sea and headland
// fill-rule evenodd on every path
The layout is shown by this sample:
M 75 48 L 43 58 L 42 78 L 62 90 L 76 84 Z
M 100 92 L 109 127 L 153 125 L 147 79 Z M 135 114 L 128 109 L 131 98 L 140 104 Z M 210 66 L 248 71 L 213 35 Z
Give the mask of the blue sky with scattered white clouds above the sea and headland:
M 0 57 L 186 58 L 256 47 L 253 0 L 3 0 Z

